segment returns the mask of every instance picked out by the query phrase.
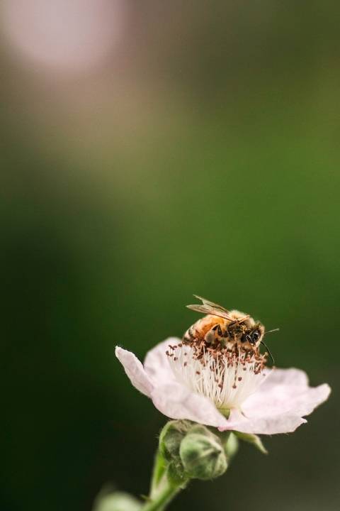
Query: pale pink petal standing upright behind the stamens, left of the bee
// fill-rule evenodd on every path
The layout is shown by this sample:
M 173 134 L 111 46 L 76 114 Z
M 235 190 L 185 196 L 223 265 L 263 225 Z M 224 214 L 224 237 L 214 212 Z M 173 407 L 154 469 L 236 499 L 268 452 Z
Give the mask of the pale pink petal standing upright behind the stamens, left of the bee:
M 169 337 L 169 339 L 157 344 L 157 346 L 154 346 L 152 350 L 147 352 L 144 368 L 150 380 L 152 380 L 155 385 L 175 380 L 168 356 L 166 355 L 166 350 L 169 350 L 169 345 L 174 346 L 174 344 L 179 344 L 180 342 L 181 340 L 177 337 Z

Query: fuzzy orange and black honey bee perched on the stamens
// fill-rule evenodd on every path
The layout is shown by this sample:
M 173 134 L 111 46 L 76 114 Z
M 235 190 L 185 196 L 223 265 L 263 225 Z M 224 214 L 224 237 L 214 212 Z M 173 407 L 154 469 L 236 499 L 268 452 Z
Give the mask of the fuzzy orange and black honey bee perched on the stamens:
M 237 310 L 225 309 L 222 305 L 205 300 L 203 297 L 193 295 L 202 304 L 187 305 L 188 309 L 207 314 L 183 335 L 184 344 L 200 344 L 205 341 L 212 348 L 218 346 L 227 348 L 227 351 L 259 351 L 260 344 L 266 347 L 263 336 L 266 332 L 263 324 L 254 321 L 249 314 L 243 314 Z M 273 357 L 271 356 L 273 361 Z M 274 361 L 273 361 L 274 362 Z

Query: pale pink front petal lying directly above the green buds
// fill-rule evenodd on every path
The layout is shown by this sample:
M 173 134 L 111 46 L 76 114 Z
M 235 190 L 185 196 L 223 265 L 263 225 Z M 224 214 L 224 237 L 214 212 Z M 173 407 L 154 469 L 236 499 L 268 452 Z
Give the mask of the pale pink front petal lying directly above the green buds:
M 191 392 L 176 381 L 155 387 L 151 398 L 159 412 L 171 419 L 188 419 L 207 426 L 227 426 L 227 419 L 208 397 Z

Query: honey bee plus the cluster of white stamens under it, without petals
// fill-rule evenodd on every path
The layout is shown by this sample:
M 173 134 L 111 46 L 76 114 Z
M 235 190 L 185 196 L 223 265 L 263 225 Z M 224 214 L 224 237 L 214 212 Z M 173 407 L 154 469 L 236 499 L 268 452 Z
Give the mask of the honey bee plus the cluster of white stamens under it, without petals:
M 181 343 L 170 344 L 166 355 L 177 378 L 228 416 L 259 387 L 259 375 L 267 374 L 267 353 L 259 350 L 265 328 L 249 314 L 194 296 L 203 304 L 187 307 L 207 315 L 190 326 Z

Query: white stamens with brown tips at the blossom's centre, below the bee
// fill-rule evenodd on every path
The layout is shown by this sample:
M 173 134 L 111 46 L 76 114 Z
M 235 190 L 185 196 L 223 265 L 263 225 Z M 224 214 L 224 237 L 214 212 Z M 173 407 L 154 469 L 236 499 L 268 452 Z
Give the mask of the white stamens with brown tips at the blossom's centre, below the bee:
M 169 345 L 166 351 L 173 373 L 183 385 L 208 397 L 220 412 L 240 409 L 266 376 L 266 353 L 211 347 L 205 341 Z

